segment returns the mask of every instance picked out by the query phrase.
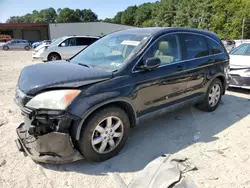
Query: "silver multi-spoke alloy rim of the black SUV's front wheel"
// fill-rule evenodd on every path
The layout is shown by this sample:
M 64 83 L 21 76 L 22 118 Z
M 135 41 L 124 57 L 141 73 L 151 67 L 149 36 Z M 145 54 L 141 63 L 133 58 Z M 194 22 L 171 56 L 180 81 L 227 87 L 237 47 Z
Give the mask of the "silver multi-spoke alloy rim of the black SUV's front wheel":
M 99 154 L 113 151 L 121 142 L 124 125 L 120 118 L 109 116 L 103 119 L 94 129 L 91 145 Z

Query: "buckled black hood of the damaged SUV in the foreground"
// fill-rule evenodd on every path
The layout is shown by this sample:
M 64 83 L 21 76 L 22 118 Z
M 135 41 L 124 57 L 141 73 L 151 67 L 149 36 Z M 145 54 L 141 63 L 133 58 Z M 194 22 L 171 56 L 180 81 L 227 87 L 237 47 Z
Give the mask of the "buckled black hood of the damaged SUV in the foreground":
M 56 61 L 25 67 L 19 76 L 18 88 L 33 96 L 45 89 L 77 88 L 104 81 L 112 75 L 112 72 Z

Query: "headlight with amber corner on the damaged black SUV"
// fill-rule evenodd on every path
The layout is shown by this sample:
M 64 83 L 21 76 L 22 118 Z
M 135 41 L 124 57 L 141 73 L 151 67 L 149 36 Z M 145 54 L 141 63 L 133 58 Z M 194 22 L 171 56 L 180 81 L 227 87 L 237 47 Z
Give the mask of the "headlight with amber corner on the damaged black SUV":
M 79 90 L 48 91 L 35 96 L 26 106 L 34 109 L 65 110 L 79 93 Z

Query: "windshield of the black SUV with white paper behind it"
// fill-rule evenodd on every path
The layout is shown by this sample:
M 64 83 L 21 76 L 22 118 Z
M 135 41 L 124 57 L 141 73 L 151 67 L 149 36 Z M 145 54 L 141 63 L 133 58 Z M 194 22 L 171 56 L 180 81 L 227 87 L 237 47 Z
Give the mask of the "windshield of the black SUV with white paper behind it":
M 145 33 L 113 33 L 93 43 L 71 61 L 115 71 L 133 57 L 150 37 Z

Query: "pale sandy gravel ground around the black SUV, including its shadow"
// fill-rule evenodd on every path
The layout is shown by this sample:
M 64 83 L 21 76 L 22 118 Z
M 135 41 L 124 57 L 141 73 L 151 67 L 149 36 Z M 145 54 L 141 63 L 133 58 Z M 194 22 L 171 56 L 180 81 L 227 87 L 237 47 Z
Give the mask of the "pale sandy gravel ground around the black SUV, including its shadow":
M 198 170 L 189 172 L 199 187 L 250 187 L 250 92 L 231 90 L 213 113 L 193 107 L 141 123 L 132 129 L 121 154 L 99 164 L 37 164 L 17 151 L 15 129 L 22 121 L 13 102 L 20 70 L 31 52 L 0 51 L 0 187 L 119 187 L 112 174 L 130 184 L 153 159 L 164 153 L 188 157 Z M 166 174 L 167 175 L 167 174 Z

